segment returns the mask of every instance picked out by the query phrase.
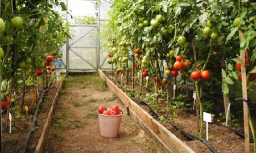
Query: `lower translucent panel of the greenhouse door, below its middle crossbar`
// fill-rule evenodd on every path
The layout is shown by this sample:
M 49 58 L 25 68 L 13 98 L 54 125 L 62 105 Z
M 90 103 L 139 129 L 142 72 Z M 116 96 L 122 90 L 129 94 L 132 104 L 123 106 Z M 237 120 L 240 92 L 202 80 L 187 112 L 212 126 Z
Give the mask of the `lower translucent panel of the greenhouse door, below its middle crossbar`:
M 69 70 L 95 70 L 96 52 L 96 48 L 69 49 Z

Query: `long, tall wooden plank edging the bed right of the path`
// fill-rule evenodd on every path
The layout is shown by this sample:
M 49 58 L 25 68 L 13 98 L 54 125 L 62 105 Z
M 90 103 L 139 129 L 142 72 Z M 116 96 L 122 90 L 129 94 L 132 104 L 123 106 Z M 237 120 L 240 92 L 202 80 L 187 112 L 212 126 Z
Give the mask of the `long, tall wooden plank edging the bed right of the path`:
M 108 79 L 100 69 L 98 69 L 98 74 L 106 82 L 108 87 L 125 104 L 125 106 L 134 114 L 135 117 L 132 118 L 138 118 L 139 124 L 143 124 L 144 128 L 147 128 L 156 139 L 160 139 L 161 141 L 159 141 L 159 143 L 162 143 L 163 147 L 168 147 L 166 149 L 170 152 L 195 152 L 177 138 L 176 135 L 172 134 L 171 131 L 156 121 L 154 117 L 144 111 L 144 109 L 135 103 L 135 101 L 131 100 L 130 97 L 128 97 L 125 92 L 120 90 L 110 79 Z

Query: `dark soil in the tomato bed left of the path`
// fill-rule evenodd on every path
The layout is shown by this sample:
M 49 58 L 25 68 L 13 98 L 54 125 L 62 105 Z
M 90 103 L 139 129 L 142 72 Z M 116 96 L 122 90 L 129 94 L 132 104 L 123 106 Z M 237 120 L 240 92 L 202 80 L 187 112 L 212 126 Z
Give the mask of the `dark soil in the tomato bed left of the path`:
M 43 88 L 40 88 L 39 93 L 42 92 Z M 16 153 L 22 150 L 24 141 L 28 135 L 28 132 L 31 129 L 32 117 L 35 113 L 36 103 L 31 102 L 32 93 L 32 90 L 28 90 L 24 96 L 24 105 L 27 105 L 29 108 L 28 116 L 26 116 L 26 113 L 24 111 L 22 114 L 20 114 L 21 102 L 20 99 L 16 100 L 15 106 L 17 113 L 15 118 L 15 125 L 14 122 L 12 122 L 12 133 L 9 133 L 9 126 L 7 129 L 5 128 L 6 120 L 3 120 L 3 152 Z M 35 147 L 38 143 L 38 139 L 40 138 L 40 135 L 42 133 L 44 122 L 46 122 L 46 114 L 48 114 L 49 112 L 49 108 L 51 107 L 52 100 L 55 94 L 56 87 L 55 82 L 53 82 L 51 86 L 49 86 L 49 90 L 46 92 L 46 94 L 44 94 L 43 102 L 40 105 L 38 117 L 36 119 L 35 130 L 31 134 L 30 141 L 28 142 L 28 145 L 26 147 L 26 152 L 34 152 Z M 5 117 L 6 112 L 3 113 L 3 118 Z

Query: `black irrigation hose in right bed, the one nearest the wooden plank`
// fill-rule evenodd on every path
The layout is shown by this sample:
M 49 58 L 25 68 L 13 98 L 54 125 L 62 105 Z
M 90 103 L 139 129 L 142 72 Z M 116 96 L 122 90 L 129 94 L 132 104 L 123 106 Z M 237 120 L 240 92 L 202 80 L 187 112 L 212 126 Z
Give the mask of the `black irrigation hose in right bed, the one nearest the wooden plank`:
M 117 82 L 117 80 L 115 80 L 117 84 L 119 84 Z M 124 88 L 121 84 L 119 84 L 119 86 L 121 86 L 122 88 Z M 140 99 L 141 100 L 141 99 Z M 146 101 L 143 101 L 141 100 L 145 105 L 147 105 L 147 107 L 149 107 L 151 109 L 151 111 L 159 118 L 160 117 L 160 114 L 158 112 L 155 111 L 154 108 L 151 107 L 150 104 L 148 104 Z M 210 151 L 214 152 L 214 153 L 217 153 L 216 149 L 213 148 L 213 146 L 211 146 L 208 141 L 206 139 L 203 139 L 203 138 L 199 138 L 197 137 L 196 135 L 193 135 L 191 133 L 188 133 L 187 131 L 181 129 L 177 124 L 175 124 L 174 122 L 166 119 L 166 122 L 168 122 L 169 124 L 171 124 L 172 126 L 174 126 L 174 128 L 176 130 L 179 130 L 181 133 L 183 133 L 186 137 L 189 137 L 189 138 L 193 138 L 193 139 L 199 139 L 201 142 L 203 142 L 209 149 Z

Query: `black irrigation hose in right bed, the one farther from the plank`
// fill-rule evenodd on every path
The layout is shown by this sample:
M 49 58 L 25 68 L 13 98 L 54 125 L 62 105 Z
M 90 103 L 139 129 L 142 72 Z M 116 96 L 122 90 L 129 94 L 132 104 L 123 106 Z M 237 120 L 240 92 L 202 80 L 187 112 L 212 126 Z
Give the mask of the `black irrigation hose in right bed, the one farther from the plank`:
M 137 80 L 135 80 L 135 81 L 138 83 Z M 148 90 L 150 92 L 155 92 L 154 90 L 152 90 L 152 89 L 150 89 L 148 87 L 146 87 L 146 90 Z M 166 96 L 161 96 L 161 97 L 166 99 Z M 195 114 L 195 112 L 192 109 L 189 109 L 189 108 L 186 108 L 186 107 L 181 107 L 181 108 L 187 110 L 188 112 L 190 112 L 192 114 Z M 226 128 L 226 129 L 228 129 L 230 131 L 234 131 L 234 133 L 237 134 L 238 136 L 240 136 L 241 138 L 245 138 L 245 134 L 243 134 L 241 131 L 238 131 L 238 130 L 230 127 L 230 126 L 224 126 L 224 125 L 218 124 L 216 122 L 212 122 L 212 124 L 217 125 L 217 126 L 222 126 L 223 128 Z M 253 143 L 253 137 L 250 137 L 250 143 Z

